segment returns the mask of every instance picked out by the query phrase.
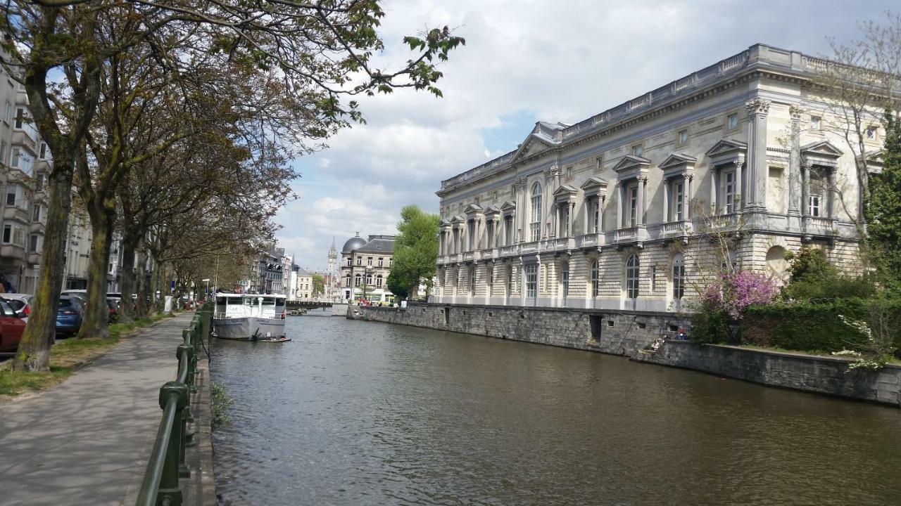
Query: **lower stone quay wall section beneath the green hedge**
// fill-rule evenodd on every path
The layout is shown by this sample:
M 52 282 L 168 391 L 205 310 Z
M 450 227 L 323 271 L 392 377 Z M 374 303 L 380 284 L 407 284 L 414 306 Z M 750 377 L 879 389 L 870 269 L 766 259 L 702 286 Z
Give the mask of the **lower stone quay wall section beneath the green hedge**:
M 901 366 L 849 369 L 851 360 L 669 340 L 634 360 L 684 367 L 805 392 L 901 406 Z

